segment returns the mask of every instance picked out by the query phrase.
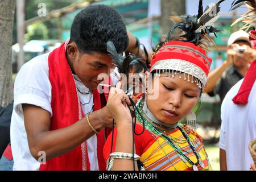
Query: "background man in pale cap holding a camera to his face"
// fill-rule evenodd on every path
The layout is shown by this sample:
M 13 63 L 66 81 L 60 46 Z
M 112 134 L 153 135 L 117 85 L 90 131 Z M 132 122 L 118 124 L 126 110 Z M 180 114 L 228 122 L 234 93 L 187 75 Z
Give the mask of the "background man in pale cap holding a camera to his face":
M 232 86 L 245 76 L 248 64 L 256 55 L 256 51 L 251 48 L 249 35 L 245 31 L 240 30 L 230 35 L 227 54 L 224 63 L 209 73 L 204 89 L 209 96 L 218 94 L 221 102 Z

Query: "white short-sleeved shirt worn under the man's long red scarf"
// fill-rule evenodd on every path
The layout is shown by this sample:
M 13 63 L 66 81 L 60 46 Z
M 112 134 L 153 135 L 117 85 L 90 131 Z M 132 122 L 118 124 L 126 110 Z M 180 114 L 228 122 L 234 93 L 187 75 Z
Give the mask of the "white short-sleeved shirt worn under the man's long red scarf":
M 14 170 L 39 170 L 40 163 L 36 161 L 28 148 L 27 134 L 24 127 L 22 104 L 31 104 L 47 110 L 52 117 L 51 108 L 51 82 L 48 68 L 49 53 L 35 57 L 20 69 L 14 83 L 14 110 L 11 117 L 11 149 L 14 158 Z M 114 84 L 117 79 L 112 76 Z M 93 94 L 86 88 L 79 78 L 75 78 L 79 93 L 79 100 L 84 113 L 89 113 L 93 107 Z M 88 94 L 85 94 L 88 93 Z M 97 171 L 97 135 L 86 140 L 88 148 L 90 169 Z

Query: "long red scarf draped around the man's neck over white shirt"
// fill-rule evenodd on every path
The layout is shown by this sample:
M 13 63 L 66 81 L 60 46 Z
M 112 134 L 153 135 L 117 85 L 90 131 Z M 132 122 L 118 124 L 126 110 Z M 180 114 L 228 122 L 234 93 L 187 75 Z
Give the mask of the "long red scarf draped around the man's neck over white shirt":
M 68 41 L 61 44 L 59 48 L 53 50 L 48 57 L 49 80 L 52 86 L 52 118 L 50 130 L 57 130 L 68 127 L 84 117 L 77 96 L 75 81 L 73 80 L 71 69 L 65 57 L 65 46 Z M 93 91 L 94 109 L 101 109 L 106 104 L 105 97 L 101 96 L 97 90 Z M 104 96 L 104 95 L 103 95 Z M 79 110 L 81 114 L 79 116 Z M 106 164 L 102 155 L 105 143 L 105 133 L 102 130 L 97 134 L 97 155 L 100 170 L 106 169 Z M 88 151 L 86 142 L 80 144 L 67 154 L 48 160 L 46 164 L 40 165 L 40 170 L 49 171 L 81 171 L 90 170 Z

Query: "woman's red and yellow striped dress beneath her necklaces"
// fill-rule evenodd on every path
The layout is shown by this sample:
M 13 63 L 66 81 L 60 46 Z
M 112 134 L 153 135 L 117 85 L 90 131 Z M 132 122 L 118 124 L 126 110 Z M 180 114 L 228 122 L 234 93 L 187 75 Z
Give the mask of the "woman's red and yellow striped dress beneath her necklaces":
M 181 126 L 182 129 L 189 135 L 191 142 L 193 142 L 193 145 L 196 147 L 200 162 L 203 162 L 203 165 L 201 166 L 204 168 L 197 165 L 199 170 L 212 170 L 201 137 L 192 130 L 189 130 L 186 125 Z M 136 125 L 136 133 L 141 133 L 142 130 L 143 127 L 141 125 Z M 168 135 L 178 142 L 177 145 L 180 147 L 184 155 L 191 159 L 193 163 L 197 162 L 196 155 L 193 153 L 191 147 L 178 128 L 171 131 L 171 133 L 168 133 Z M 117 130 L 114 129 L 113 151 L 116 136 Z M 112 134 L 109 135 L 105 143 L 105 160 L 109 158 L 111 141 Z M 141 156 L 141 162 L 144 164 L 146 171 L 193 170 L 191 164 L 189 164 L 187 160 L 180 158 L 180 155 L 164 139 L 151 135 L 146 129 L 142 135 L 135 135 L 135 148 L 136 153 Z

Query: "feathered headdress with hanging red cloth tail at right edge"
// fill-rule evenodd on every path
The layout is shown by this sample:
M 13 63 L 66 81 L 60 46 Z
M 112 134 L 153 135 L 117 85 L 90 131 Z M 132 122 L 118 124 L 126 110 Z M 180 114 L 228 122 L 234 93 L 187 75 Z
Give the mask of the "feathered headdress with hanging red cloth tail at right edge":
M 240 7 L 242 5 L 247 5 L 249 6 L 249 12 L 246 13 L 245 15 L 243 15 L 241 18 L 237 19 L 236 22 L 240 22 L 243 21 L 245 23 L 245 26 L 243 26 L 242 28 L 250 28 L 250 27 L 254 27 L 254 29 L 256 28 L 256 3 L 254 0 L 251 1 L 244 1 L 244 0 L 236 0 L 232 3 L 232 7 L 231 10 L 236 9 L 237 7 Z M 233 24 L 234 24 L 233 23 Z M 250 40 L 256 40 L 256 31 L 255 30 L 251 30 L 249 32 L 249 39 Z M 248 97 L 250 95 L 251 92 L 251 88 L 253 88 L 254 82 L 256 80 L 256 61 L 254 60 L 253 63 L 250 65 L 250 68 L 248 69 L 248 71 L 246 72 L 245 78 L 242 82 L 242 85 L 240 87 L 240 89 L 238 90 L 237 95 L 232 99 L 232 101 L 234 102 L 234 104 L 242 104 L 242 105 L 246 105 L 248 102 Z

